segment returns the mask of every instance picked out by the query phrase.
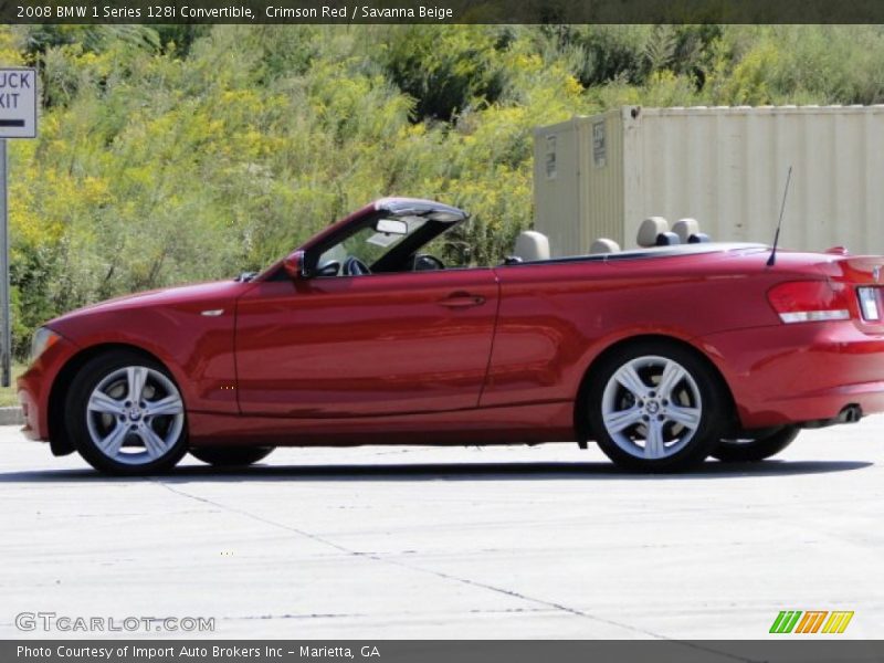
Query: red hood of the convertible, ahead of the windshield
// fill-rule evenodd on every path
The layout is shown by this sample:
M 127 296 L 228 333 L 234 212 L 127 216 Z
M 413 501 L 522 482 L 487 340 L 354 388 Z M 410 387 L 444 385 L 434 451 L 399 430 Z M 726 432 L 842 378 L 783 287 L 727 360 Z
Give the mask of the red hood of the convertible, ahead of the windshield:
M 84 306 L 66 313 L 50 323 L 49 327 L 64 325 L 67 322 L 99 313 L 130 311 L 144 307 L 190 306 L 200 303 L 218 303 L 238 297 L 251 286 L 248 282 L 217 281 L 198 283 L 178 287 L 165 287 L 146 291 L 122 297 L 106 299 L 91 306 Z

